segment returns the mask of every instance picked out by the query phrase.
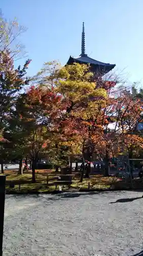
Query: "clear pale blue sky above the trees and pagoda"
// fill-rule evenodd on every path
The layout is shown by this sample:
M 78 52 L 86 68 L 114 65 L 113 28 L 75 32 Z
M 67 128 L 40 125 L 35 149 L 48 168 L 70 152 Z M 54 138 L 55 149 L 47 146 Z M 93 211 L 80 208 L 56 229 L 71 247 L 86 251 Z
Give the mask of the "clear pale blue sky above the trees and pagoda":
M 143 0 L 1 0 L 7 19 L 27 27 L 21 36 L 34 75 L 45 61 L 79 56 L 82 22 L 85 52 L 116 63 L 131 81 L 143 77 Z

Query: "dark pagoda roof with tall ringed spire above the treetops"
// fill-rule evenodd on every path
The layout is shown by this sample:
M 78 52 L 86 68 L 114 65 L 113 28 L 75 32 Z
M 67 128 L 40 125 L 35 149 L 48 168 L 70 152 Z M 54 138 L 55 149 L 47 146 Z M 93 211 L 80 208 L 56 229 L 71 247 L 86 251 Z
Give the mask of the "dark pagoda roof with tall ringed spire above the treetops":
M 81 54 L 79 57 L 74 58 L 72 56 L 69 57 L 67 65 L 72 65 L 73 63 L 80 64 L 90 64 L 90 71 L 94 73 L 94 77 L 99 77 L 107 74 L 113 68 L 115 68 L 115 64 L 104 63 L 95 59 L 90 58 L 87 54 L 85 54 L 85 31 L 84 31 L 84 22 L 82 25 L 82 36 L 81 36 Z

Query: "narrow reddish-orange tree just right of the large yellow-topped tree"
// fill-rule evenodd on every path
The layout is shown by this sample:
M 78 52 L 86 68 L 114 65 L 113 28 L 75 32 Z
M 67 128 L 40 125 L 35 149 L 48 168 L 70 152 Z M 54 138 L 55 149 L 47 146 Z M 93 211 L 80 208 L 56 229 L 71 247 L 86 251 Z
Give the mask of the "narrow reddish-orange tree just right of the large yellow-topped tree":
M 101 126 L 103 127 L 103 134 L 100 141 L 96 144 L 96 152 L 104 159 L 104 175 L 109 176 L 109 159 L 112 155 L 115 143 L 117 142 L 116 134 L 119 131 L 118 115 L 117 115 L 117 76 L 111 77 L 112 80 L 103 80 L 100 78 L 98 84 L 107 92 L 105 99 L 105 106 L 101 113 Z M 118 105 L 119 106 L 119 105 Z M 119 106 L 120 109 L 120 106 Z

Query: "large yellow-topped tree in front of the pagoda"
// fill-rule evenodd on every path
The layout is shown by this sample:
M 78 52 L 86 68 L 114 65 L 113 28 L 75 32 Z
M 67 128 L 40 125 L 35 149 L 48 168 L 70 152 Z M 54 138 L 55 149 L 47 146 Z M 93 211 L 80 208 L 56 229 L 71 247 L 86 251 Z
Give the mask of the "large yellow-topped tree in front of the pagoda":
M 62 79 L 56 83 L 55 91 L 66 107 L 61 117 L 60 142 L 68 147 L 67 155 L 83 155 L 87 150 L 90 161 L 96 141 L 103 133 L 100 115 L 105 106 L 106 90 L 96 88 L 96 81 L 91 82 L 93 74 L 89 66 L 75 63 L 61 69 L 59 74 Z

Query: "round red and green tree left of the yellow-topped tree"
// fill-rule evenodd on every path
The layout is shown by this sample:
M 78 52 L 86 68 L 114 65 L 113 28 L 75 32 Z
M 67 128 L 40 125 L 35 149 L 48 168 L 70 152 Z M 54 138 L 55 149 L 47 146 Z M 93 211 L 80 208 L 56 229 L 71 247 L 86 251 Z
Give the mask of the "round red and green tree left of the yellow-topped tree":
M 41 154 L 51 147 L 52 123 L 59 113 L 60 96 L 53 90 L 32 86 L 20 94 L 9 119 L 9 140 L 20 160 L 26 156 L 32 159 L 32 177 L 36 181 L 35 169 Z M 17 155 L 18 156 L 18 155 Z

